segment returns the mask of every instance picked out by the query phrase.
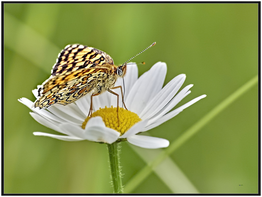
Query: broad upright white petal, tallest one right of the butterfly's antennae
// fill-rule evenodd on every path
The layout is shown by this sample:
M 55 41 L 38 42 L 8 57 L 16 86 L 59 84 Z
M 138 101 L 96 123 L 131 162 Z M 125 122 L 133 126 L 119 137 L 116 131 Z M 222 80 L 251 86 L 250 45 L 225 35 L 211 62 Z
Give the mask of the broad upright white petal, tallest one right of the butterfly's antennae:
M 125 101 L 129 110 L 139 115 L 144 106 L 161 90 L 166 71 L 166 63 L 158 62 L 139 77 Z

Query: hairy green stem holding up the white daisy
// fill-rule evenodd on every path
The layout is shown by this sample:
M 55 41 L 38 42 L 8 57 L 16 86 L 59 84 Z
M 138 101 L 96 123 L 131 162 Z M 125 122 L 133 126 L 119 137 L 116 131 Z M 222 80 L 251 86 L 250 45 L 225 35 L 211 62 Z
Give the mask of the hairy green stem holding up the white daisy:
M 120 167 L 120 162 L 119 162 L 119 158 L 120 158 L 119 156 L 120 145 L 119 144 L 120 144 L 119 142 L 107 144 L 114 194 L 123 193 L 123 186 L 122 186 L 122 180 L 121 180 L 121 167 Z

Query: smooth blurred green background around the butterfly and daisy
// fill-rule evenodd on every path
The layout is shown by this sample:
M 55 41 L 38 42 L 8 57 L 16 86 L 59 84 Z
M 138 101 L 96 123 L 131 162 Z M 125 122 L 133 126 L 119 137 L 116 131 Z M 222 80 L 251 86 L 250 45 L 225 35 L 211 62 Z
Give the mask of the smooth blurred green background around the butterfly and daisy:
M 207 97 L 148 133 L 176 140 L 227 96 L 258 74 L 260 4 L 4 4 L 4 192 L 112 193 L 105 144 L 34 136 L 54 133 L 17 101 L 50 76 L 67 44 L 108 53 L 115 64 L 135 57 L 139 75 L 167 63 L 165 84 L 178 74 L 194 84 L 178 106 Z M 146 163 L 122 143 L 123 184 Z M 199 193 L 258 193 L 258 85 L 170 155 Z M 166 169 L 167 171 L 172 171 Z M 167 186 L 179 176 L 152 172 L 132 193 L 189 193 Z M 171 179 L 171 181 L 170 181 Z M 183 184 L 183 183 L 181 183 Z M 187 183 L 189 184 L 189 183 Z M 189 185 L 190 185 L 189 184 Z M 239 186 L 243 185 L 243 186 Z M 182 186 L 179 186 L 182 188 Z

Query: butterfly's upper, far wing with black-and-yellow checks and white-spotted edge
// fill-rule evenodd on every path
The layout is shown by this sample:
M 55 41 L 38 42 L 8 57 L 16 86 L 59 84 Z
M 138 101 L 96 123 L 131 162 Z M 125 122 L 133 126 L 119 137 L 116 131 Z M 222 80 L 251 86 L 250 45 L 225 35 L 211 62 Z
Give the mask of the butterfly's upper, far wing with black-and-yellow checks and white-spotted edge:
M 114 65 L 114 62 L 112 58 L 103 51 L 79 44 L 67 45 L 61 53 L 59 53 L 51 74 L 55 76 L 77 71 L 81 68 L 103 66 L 104 64 Z

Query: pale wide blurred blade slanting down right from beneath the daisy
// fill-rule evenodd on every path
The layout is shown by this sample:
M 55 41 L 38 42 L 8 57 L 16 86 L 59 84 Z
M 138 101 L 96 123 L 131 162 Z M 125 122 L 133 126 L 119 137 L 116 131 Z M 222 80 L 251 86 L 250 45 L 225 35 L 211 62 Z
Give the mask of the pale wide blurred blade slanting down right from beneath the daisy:
M 130 147 L 146 162 L 150 163 L 157 155 L 161 154 L 161 149 L 145 149 L 129 144 Z M 172 193 L 195 194 L 199 193 L 185 174 L 179 169 L 174 161 L 167 157 L 155 169 L 156 175 L 166 184 Z M 125 190 L 124 190 L 125 192 Z

